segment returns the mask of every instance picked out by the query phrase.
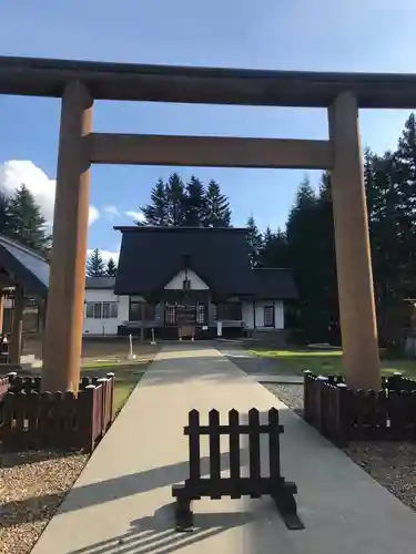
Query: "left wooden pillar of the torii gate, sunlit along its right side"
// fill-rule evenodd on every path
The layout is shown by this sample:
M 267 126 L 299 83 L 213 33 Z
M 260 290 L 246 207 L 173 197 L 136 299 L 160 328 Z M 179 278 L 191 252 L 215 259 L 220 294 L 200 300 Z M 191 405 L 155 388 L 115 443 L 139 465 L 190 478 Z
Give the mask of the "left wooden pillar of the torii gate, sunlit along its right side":
M 93 99 L 79 81 L 62 96 L 53 250 L 44 335 L 42 389 L 78 392 L 82 349 Z

